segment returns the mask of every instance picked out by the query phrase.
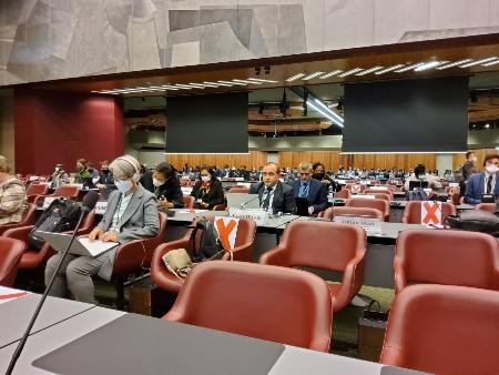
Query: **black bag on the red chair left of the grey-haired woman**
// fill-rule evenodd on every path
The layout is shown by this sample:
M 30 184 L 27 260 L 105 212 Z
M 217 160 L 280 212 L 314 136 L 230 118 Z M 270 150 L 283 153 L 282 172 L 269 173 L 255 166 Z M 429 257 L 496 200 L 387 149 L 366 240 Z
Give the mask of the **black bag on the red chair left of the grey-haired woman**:
M 78 203 L 68 199 L 53 200 L 28 234 L 30 247 L 41 249 L 45 243 L 45 240 L 38 235 L 38 231 L 61 233 L 74 230 L 80 213 Z

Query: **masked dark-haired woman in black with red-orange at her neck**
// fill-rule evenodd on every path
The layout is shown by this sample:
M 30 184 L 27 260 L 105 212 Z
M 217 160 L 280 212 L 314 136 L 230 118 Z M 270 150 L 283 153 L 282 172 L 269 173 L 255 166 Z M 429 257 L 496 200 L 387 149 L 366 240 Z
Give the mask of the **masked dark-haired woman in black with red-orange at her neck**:
M 224 190 L 222 182 L 216 179 L 215 171 L 210 166 L 202 166 L 200 175 L 191 192 L 191 196 L 196 200 L 196 209 L 212 210 L 215 205 L 223 204 Z

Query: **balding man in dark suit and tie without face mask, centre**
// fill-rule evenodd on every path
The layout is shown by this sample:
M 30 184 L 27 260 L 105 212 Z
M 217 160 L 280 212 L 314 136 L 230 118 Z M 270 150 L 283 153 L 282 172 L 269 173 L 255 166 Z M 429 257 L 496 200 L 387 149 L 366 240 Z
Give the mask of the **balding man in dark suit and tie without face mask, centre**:
M 264 165 L 262 175 L 263 182 L 256 182 L 249 188 L 249 194 L 259 195 L 259 206 L 262 210 L 274 214 L 295 213 L 296 205 L 293 196 L 293 189 L 279 181 L 279 166 L 276 163 Z

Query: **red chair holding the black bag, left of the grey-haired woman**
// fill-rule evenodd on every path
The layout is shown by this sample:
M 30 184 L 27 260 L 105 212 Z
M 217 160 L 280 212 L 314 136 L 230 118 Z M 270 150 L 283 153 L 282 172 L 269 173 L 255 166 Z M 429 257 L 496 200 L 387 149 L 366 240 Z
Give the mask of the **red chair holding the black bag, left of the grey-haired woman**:
M 83 222 L 81 223 L 80 230 L 78 231 L 78 235 L 89 234 L 93 229 L 93 219 L 95 216 L 95 210 L 89 212 L 85 217 L 83 217 Z M 24 251 L 22 253 L 21 263 L 19 265 L 20 268 L 37 268 L 44 264 L 44 262 L 54 254 L 54 250 L 45 243 L 40 250 L 31 249 L 28 244 L 28 234 L 32 230 L 33 225 L 16 227 L 6 231 L 3 236 L 10 239 L 17 239 L 23 242 Z

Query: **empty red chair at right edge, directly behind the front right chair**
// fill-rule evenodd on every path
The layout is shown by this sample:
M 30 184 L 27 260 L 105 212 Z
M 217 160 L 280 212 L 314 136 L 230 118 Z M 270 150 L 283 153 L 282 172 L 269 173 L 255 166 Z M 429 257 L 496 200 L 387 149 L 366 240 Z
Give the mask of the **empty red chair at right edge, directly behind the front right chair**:
M 400 232 L 395 291 L 410 284 L 449 284 L 499 291 L 499 245 L 489 234 L 454 230 Z

